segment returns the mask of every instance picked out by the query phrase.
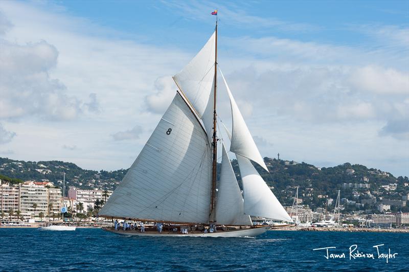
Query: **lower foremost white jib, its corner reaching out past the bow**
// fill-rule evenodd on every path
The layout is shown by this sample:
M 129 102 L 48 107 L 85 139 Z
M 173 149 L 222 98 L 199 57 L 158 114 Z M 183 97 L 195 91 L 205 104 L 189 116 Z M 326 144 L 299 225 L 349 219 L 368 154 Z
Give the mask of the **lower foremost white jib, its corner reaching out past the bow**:
M 280 201 L 271 192 L 248 158 L 236 154 L 244 191 L 244 213 L 292 222 Z

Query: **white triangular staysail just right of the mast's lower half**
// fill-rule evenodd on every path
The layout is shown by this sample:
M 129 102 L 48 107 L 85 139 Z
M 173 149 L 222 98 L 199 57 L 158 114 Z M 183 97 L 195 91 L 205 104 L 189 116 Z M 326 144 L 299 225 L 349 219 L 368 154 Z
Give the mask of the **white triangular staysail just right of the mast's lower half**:
M 224 143 L 220 181 L 216 201 L 216 222 L 220 225 L 252 225 L 250 216 L 244 214 L 243 197 Z

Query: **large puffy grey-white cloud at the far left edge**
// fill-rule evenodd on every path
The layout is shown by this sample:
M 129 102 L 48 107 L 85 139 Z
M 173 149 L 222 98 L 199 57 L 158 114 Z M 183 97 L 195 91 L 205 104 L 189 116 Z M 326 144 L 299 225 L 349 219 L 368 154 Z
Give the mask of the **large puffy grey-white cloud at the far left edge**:
M 80 113 L 80 101 L 65 94 L 66 87 L 50 77 L 58 51 L 46 41 L 25 45 L 1 41 L 0 113 L 5 119 L 40 116 L 71 120 Z

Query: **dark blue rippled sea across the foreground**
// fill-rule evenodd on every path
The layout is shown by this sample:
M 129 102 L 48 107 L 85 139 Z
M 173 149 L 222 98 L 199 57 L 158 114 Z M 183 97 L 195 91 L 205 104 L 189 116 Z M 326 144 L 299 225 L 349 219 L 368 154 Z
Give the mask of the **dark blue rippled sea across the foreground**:
M 350 260 L 349 248 L 354 244 L 357 248 L 353 254 L 359 251 L 370 257 L 358 254 Z M 380 244 L 378 255 L 373 246 Z M 313 251 L 323 247 L 336 247 L 328 253 L 341 258 L 327 259 L 326 250 Z M 0 270 L 125 269 L 409 271 L 409 234 L 269 231 L 257 238 L 149 238 L 120 236 L 101 229 L 0 229 Z

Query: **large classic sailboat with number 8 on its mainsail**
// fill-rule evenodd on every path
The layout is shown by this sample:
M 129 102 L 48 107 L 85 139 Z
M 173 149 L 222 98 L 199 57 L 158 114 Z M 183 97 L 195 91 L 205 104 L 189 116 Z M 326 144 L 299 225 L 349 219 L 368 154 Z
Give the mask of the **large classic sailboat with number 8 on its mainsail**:
M 292 222 L 253 166 L 252 162 L 268 171 L 220 71 L 230 99 L 230 151 L 240 168 L 241 193 L 228 150 L 216 130 L 218 71 L 216 20 L 205 46 L 173 76 L 178 87 L 173 101 L 99 211 L 105 218 L 165 224 L 165 231 L 104 230 L 141 236 L 254 237 L 270 227 L 253 225 L 251 216 Z M 222 157 L 219 180 L 218 149 Z M 180 234 L 178 230 L 185 226 L 190 232 Z

